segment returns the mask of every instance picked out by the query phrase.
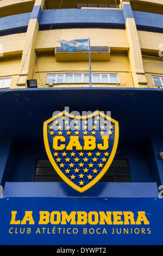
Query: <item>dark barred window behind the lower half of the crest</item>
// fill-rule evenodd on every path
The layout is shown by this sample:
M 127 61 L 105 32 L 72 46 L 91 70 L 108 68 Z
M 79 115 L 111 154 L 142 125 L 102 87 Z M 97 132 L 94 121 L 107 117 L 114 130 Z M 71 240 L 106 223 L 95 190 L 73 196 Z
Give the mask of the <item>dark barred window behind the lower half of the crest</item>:
M 48 158 L 37 159 L 35 182 L 63 182 Z M 127 159 L 115 159 L 100 182 L 130 182 Z

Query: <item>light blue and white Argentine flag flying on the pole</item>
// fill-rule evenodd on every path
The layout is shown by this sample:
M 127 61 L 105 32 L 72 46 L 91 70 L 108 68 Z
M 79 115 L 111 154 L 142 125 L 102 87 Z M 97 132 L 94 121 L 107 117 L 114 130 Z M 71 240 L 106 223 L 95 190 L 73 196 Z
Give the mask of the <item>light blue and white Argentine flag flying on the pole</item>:
M 76 49 L 89 50 L 89 39 L 75 39 L 71 41 L 59 40 L 62 50 L 75 51 Z

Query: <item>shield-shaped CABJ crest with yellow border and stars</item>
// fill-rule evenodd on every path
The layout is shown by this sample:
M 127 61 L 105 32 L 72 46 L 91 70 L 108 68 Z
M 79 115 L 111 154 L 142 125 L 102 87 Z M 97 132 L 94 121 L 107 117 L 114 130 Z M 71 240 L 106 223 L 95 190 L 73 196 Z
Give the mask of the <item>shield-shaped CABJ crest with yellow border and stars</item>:
M 43 124 L 45 148 L 60 177 L 79 192 L 96 184 L 108 170 L 118 144 L 118 122 L 96 111 L 62 111 Z

